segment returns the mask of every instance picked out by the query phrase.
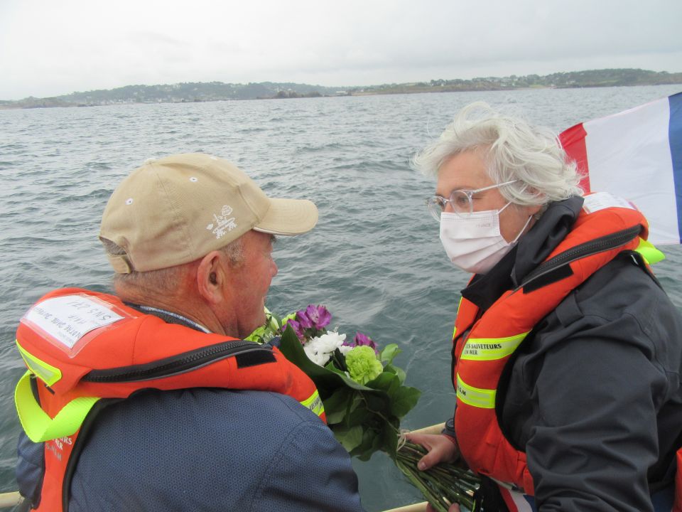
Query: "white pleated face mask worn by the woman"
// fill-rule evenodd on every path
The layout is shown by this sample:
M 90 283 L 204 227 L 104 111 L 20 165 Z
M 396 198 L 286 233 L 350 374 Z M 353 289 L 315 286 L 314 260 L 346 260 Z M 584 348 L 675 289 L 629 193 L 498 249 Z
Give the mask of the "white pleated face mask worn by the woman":
M 510 204 L 507 203 L 500 210 L 465 214 L 441 213 L 440 242 L 443 243 L 450 261 L 472 274 L 485 274 L 497 265 L 511 247 L 516 245 L 532 218 L 529 216 L 516 238 L 507 242 L 499 232 L 499 214 Z

